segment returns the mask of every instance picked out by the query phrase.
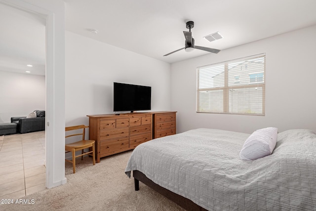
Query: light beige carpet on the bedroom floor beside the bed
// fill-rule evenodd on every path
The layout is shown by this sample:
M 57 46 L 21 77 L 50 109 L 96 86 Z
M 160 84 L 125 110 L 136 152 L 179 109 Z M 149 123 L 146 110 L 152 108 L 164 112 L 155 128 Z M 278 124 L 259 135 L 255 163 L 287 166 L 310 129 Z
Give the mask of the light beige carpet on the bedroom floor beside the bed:
M 24 203 L 28 200 L 30 204 L 1 204 L 0 210 L 184 211 L 141 182 L 140 190 L 134 190 L 134 179 L 129 179 L 124 173 L 131 153 L 101 158 L 95 166 L 91 158 L 78 159 L 75 174 L 72 164 L 67 162 L 65 185 L 22 198 Z

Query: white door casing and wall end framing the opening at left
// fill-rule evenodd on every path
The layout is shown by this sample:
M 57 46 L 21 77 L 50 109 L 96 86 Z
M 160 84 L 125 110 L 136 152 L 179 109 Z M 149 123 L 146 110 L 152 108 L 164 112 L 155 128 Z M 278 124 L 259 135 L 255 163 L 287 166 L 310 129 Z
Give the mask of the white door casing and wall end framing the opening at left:
M 46 20 L 46 187 L 65 184 L 65 2 L 0 0 Z

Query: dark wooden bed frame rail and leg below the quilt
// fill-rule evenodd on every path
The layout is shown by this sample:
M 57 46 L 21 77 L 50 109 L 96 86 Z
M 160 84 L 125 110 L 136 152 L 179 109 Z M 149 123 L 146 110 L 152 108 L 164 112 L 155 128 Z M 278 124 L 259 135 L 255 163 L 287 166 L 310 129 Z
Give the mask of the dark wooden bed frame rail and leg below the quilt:
M 158 184 L 156 184 L 155 182 L 147 178 L 145 174 L 143 174 L 142 172 L 138 170 L 133 170 L 133 177 L 134 177 L 134 183 L 135 183 L 135 191 L 139 190 L 139 181 L 141 181 L 148 187 L 160 193 L 162 196 L 170 199 L 171 201 L 175 202 L 180 207 L 188 211 L 206 211 L 204 208 L 198 206 L 191 200 L 159 186 Z

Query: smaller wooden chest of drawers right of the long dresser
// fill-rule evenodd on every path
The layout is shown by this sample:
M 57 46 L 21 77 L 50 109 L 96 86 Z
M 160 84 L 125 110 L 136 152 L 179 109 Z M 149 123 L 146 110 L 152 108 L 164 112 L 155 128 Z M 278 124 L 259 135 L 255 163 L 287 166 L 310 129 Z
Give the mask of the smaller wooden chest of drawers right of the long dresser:
M 153 138 L 176 134 L 176 112 L 161 111 L 153 114 Z

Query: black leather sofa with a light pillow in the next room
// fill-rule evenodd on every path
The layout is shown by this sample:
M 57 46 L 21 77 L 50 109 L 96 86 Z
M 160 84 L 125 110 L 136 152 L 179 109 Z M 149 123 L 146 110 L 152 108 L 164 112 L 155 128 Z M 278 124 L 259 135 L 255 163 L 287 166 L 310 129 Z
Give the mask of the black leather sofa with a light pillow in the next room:
M 35 110 L 35 112 L 35 118 L 11 117 L 11 123 L 17 124 L 17 132 L 26 133 L 45 130 L 45 111 Z

